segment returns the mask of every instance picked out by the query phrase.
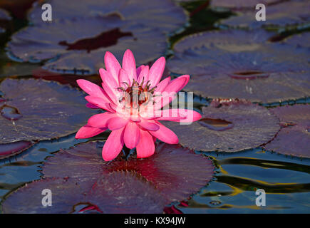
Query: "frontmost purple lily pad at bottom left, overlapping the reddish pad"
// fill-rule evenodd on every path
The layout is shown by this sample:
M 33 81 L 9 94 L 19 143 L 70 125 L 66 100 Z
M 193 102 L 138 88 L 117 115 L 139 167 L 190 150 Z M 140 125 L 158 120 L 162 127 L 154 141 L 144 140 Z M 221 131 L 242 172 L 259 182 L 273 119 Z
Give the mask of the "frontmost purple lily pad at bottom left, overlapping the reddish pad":
M 92 184 L 92 185 L 90 185 Z M 42 190 L 52 192 L 52 206 L 42 206 Z M 96 182 L 47 178 L 9 195 L 4 213 L 161 213 L 165 202 L 153 186 L 133 173 L 111 172 Z

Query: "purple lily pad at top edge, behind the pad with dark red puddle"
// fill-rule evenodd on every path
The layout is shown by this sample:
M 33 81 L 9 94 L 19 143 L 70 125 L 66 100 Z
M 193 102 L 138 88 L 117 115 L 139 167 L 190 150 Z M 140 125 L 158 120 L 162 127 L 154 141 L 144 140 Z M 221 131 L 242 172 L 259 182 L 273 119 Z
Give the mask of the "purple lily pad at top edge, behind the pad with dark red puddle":
M 141 2 L 140 0 L 48 0 L 33 4 L 29 11 L 29 21 L 33 24 L 46 24 L 41 19 L 42 4 L 53 6 L 53 22 L 63 19 L 77 19 L 81 15 L 108 16 L 118 14 L 123 21 L 142 24 L 150 28 L 160 28 L 164 33 L 171 33 L 185 24 L 186 14 L 181 6 L 170 0 Z M 93 26 L 93 25 L 92 25 Z M 81 27 L 85 29 L 85 27 Z M 86 34 L 86 33 L 85 33 Z M 114 52 L 113 52 L 114 53 Z

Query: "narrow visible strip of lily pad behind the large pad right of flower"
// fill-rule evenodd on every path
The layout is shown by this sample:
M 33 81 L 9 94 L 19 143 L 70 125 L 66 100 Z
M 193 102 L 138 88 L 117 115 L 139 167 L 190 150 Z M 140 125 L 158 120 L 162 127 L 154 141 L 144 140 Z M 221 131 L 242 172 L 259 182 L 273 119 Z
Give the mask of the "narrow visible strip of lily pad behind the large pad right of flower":
M 247 31 L 241 29 L 227 29 L 219 31 L 206 31 L 185 36 L 175 43 L 174 51 L 182 52 L 189 48 L 219 48 L 224 51 L 255 51 L 273 36 L 274 33 L 264 29 Z

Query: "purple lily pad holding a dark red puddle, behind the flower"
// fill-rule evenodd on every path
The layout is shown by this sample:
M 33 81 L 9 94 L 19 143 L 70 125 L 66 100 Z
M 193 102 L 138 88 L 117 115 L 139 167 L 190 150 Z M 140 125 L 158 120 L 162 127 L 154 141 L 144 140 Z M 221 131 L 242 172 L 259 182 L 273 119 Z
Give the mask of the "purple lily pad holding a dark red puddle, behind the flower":
M 121 60 L 129 48 L 137 64 L 142 64 L 160 56 L 165 47 L 165 34 L 157 28 L 130 24 L 113 14 L 29 26 L 12 36 L 8 53 L 19 61 L 50 59 L 43 66 L 49 71 L 95 74 L 104 67 L 105 51 L 112 51 Z

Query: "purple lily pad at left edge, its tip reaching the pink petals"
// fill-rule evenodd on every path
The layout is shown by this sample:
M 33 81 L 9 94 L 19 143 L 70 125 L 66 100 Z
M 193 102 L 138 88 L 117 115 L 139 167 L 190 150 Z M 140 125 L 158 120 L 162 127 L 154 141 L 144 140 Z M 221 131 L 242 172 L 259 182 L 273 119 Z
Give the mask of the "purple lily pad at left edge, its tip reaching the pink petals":
M 0 90 L 2 148 L 11 142 L 50 140 L 75 133 L 83 120 L 96 113 L 85 107 L 81 91 L 55 82 L 6 79 Z

